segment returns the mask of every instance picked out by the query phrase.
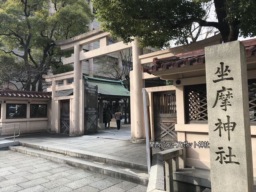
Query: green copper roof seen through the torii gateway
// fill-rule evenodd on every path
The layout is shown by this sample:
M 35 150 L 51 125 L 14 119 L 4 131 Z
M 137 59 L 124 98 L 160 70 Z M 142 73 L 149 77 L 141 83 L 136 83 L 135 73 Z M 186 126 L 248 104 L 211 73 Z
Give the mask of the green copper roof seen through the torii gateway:
M 93 86 L 98 86 L 98 94 L 104 97 L 127 98 L 130 92 L 124 88 L 123 81 L 113 81 L 94 77 L 83 76 L 85 82 Z

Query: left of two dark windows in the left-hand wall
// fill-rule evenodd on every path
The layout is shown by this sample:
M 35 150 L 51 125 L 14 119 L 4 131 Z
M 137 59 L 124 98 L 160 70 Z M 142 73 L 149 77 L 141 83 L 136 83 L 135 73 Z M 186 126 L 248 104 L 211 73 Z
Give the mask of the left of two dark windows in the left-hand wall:
M 18 119 L 27 117 L 27 104 L 6 104 L 6 118 Z

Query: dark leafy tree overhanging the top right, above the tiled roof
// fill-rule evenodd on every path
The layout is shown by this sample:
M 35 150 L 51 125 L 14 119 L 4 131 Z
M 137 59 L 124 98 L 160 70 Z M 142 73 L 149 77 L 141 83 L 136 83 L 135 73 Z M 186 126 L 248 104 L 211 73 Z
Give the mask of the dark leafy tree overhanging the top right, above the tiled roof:
M 168 47 L 170 40 L 186 42 L 193 23 L 214 27 L 224 42 L 256 35 L 255 0 L 214 0 L 216 21 L 206 20 L 204 4 L 211 0 L 93 0 L 96 16 L 112 35 L 142 46 Z

